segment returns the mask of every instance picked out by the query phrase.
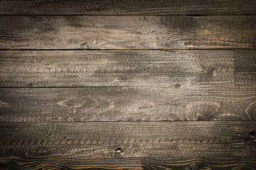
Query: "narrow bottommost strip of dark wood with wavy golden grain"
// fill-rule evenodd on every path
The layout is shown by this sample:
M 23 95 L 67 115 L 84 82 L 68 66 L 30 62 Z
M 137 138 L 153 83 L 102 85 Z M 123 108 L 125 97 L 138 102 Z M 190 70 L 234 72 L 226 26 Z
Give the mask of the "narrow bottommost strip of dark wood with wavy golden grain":
M 73 169 L 144 169 L 144 170 L 254 170 L 255 158 L 159 157 L 159 158 L 104 158 L 104 157 L 41 157 L 37 159 L 3 159 L 3 170 L 73 170 Z

